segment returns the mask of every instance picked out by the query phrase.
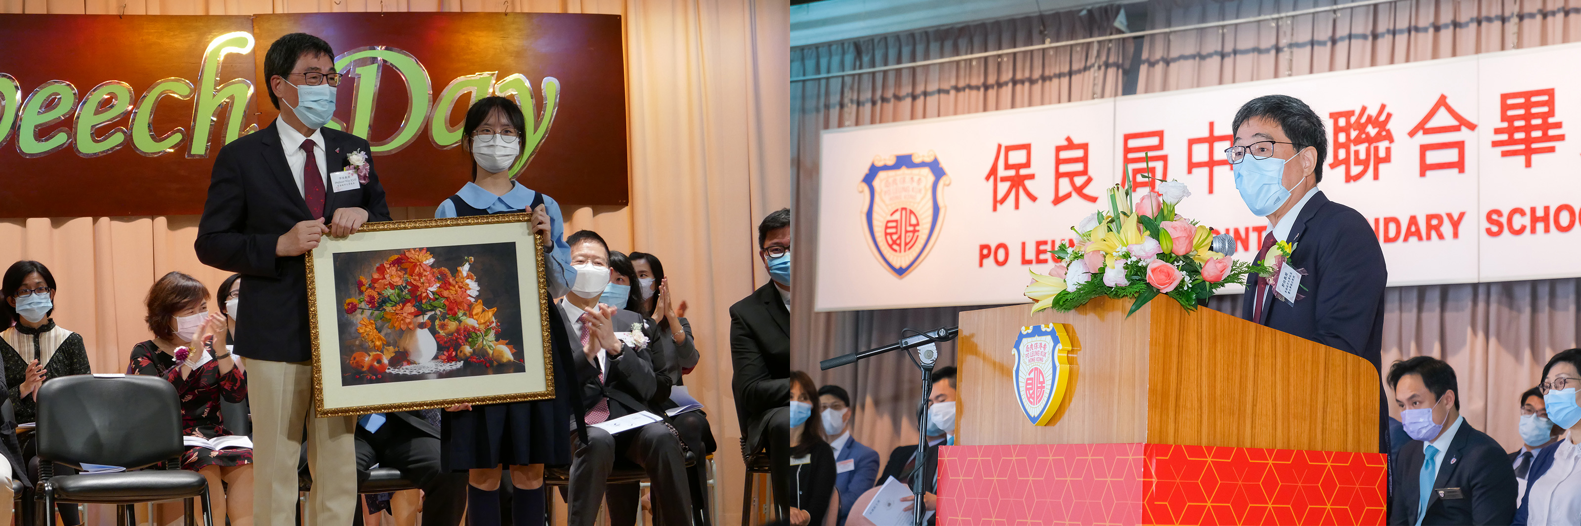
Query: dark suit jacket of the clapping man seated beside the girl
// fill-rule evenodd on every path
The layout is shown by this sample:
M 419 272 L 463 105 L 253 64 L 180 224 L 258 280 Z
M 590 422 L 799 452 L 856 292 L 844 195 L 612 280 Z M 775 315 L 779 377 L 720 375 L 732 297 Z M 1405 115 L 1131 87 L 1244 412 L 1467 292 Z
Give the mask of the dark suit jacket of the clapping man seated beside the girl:
M 564 300 L 561 300 L 564 302 Z M 560 311 L 558 302 L 555 303 L 557 313 Z M 571 319 L 566 319 L 566 333 L 572 343 L 582 341 L 580 333 L 572 333 Z M 643 316 L 620 310 L 615 313 L 613 319 L 615 329 L 629 329 L 631 324 L 643 324 Z M 645 325 L 647 327 L 647 325 Z M 647 329 L 643 329 L 647 332 Z M 624 330 L 617 330 L 624 332 Z M 648 333 L 648 341 L 651 348 L 653 333 Z M 653 373 L 653 354 L 648 348 L 632 349 L 631 346 L 621 344 L 620 355 L 609 357 L 607 374 L 601 382 L 598 374 L 598 363 L 593 363 L 582 354 L 580 344 L 572 344 L 572 362 L 575 362 L 577 384 L 582 385 L 582 403 L 587 409 L 591 409 L 601 398 L 609 398 L 609 419 L 620 419 L 628 414 L 636 414 L 642 411 L 653 411 L 648 401 L 653 393 L 659 389 L 658 374 Z M 653 411 L 658 415 L 664 412 Z

